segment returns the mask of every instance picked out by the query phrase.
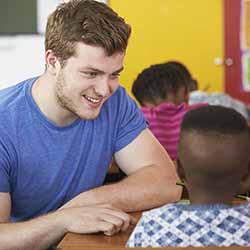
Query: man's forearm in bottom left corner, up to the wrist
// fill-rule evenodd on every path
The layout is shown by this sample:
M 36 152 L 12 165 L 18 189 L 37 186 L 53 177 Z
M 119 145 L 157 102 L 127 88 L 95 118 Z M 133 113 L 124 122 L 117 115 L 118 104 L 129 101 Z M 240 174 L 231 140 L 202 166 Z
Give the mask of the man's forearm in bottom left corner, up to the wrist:
M 58 213 L 27 222 L 0 224 L 0 250 L 43 250 L 66 233 Z

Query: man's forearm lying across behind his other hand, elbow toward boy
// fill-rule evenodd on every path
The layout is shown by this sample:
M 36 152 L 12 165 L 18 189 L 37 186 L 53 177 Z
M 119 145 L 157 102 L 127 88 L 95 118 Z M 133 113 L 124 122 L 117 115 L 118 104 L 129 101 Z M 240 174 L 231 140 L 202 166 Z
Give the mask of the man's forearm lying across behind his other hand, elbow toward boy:
M 64 207 L 110 203 L 126 212 L 146 210 L 179 200 L 182 188 L 176 181 L 176 175 L 144 167 L 118 183 L 83 192 Z

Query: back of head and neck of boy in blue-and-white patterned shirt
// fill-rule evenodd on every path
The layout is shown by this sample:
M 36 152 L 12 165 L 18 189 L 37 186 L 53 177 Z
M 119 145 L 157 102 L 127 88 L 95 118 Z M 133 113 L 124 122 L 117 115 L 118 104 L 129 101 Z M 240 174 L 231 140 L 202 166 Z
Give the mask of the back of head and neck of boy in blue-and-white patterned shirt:
M 177 169 L 191 203 L 230 203 L 249 175 L 249 156 L 249 127 L 235 110 L 206 106 L 184 116 Z

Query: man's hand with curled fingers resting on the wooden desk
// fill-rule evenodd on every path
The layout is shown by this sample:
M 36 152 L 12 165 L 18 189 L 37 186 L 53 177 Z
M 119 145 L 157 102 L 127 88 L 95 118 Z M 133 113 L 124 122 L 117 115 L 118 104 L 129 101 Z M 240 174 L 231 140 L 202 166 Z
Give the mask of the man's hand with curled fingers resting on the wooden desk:
M 110 205 L 65 208 L 60 213 L 64 213 L 66 231 L 72 233 L 103 232 L 111 236 L 136 223 L 133 217 Z

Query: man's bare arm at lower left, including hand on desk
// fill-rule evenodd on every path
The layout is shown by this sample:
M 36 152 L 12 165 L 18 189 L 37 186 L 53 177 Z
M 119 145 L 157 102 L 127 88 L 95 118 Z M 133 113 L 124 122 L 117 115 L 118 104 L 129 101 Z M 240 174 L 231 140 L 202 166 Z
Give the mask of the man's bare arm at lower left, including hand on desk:
M 5 216 L 10 214 L 8 197 L 0 193 L 0 204 L 5 204 L 0 214 L 0 250 L 43 250 L 67 232 L 113 235 L 134 223 L 129 215 L 107 205 L 62 209 L 30 221 L 10 223 Z

